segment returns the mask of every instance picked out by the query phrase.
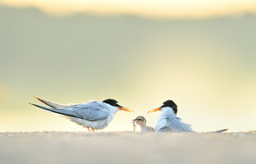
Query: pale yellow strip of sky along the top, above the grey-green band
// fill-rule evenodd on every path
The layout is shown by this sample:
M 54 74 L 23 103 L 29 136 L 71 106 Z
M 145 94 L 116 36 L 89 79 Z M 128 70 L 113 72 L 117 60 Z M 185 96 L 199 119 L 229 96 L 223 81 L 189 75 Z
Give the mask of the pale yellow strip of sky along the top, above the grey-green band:
M 55 15 L 77 12 L 132 14 L 160 18 L 207 18 L 256 13 L 255 0 L 0 0 L 11 6 L 33 6 Z

